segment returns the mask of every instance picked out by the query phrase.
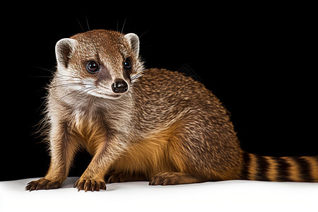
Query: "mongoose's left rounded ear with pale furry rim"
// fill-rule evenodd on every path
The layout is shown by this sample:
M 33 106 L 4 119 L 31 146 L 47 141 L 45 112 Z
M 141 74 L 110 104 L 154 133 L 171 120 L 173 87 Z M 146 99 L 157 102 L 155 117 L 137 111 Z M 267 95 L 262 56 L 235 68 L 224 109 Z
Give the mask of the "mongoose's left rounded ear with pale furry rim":
M 55 45 L 55 55 L 57 57 L 57 63 L 67 68 L 69 59 L 74 52 L 74 49 L 78 45 L 77 40 L 71 38 L 63 38 Z

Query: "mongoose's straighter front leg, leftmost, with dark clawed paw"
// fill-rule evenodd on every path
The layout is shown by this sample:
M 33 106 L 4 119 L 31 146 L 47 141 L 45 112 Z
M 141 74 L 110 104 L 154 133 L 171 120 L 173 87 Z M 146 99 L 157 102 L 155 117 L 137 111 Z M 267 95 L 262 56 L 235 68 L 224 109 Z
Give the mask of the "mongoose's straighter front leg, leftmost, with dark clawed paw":
M 64 124 L 52 126 L 50 130 L 51 163 L 45 177 L 29 182 L 25 190 L 57 189 L 69 174 L 73 156 L 78 146 L 73 141 Z

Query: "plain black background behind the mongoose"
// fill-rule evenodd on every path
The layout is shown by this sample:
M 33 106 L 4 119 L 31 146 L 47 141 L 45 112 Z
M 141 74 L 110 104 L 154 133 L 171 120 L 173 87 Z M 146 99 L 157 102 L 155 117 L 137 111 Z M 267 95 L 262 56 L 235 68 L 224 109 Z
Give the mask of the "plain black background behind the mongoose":
M 317 23 L 310 10 L 297 5 L 135 7 L 91 2 L 79 8 L 4 8 L 0 180 L 45 175 L 47 146 L 33 134 L 52 76 L 45 69 L 55 68 L 59 39 L 88 28 L 136 33 L 148 68 L 177 71 L 187 64 L 230 111 L 244 150 L 318 154 Z M 70 175 L 81 175 L 89 161 L 87 153 L 78 153 Z

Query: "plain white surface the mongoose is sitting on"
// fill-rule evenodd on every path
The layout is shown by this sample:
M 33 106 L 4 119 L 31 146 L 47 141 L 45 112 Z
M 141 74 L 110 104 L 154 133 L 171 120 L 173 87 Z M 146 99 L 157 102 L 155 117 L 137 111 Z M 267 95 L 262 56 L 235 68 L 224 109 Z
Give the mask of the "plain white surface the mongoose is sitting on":
M 69 177 L 59 189 L 28 192 L 34 179 L 0 182 L 0 211 L 318 211 L 318 183 L 232 180 L 177 186 L 107 184 L 77 192 Z

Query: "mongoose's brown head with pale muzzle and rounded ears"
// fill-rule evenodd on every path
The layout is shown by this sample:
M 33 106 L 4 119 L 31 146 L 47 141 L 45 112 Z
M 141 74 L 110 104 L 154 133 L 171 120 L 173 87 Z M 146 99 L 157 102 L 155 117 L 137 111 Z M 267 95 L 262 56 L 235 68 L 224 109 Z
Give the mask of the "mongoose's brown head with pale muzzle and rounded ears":
M 59 84 L 101 98 L 120 98 L 143 71 L 134 33 L 79 33 L 59 40 L 55 52 Z

